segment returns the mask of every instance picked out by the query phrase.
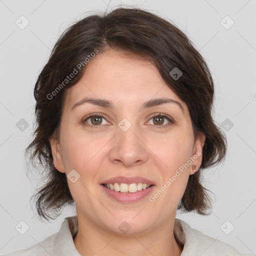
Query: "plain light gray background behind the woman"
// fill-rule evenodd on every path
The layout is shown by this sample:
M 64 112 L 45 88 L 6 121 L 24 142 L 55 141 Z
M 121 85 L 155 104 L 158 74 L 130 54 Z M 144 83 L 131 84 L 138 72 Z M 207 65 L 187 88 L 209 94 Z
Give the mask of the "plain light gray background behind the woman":
M 34 216 L 34 205 L 31 208 L 29 203 L 40 183 L 36 171 L 30 180 L 25 174 L 28 165 L 24 148 L 32 139 L 34 127 L 33 86 L 60 33 L 90 10 L 105 10 L 107 3 L 0 1 L 2 254 L 40 242 L 59 230 L 64 217 L 75 214 L 74 209 L 67 208 L 52 223 L 43 223 Z M 120 3 L 141 6 L 172 20 L 206 59 L 215 82 L 214 118 L 227 135 L 228 152 L 221 166 L 205 171 L 206 187 L 215 195 L 212 214 L 178 213 L 177 218 L 240 252 L 256 253 L 256 1 L 126 0 L 110 1 L 108 9 Z M 26 20 L 21 15 L 29 21 L 23 29 L 19 26 Z M 226 15 L 230 18 L 224 18 Z M 234 24 L 229 27 L 232 20 Z M 29 226 L 24 234 L 15 229 L 21 220 Z

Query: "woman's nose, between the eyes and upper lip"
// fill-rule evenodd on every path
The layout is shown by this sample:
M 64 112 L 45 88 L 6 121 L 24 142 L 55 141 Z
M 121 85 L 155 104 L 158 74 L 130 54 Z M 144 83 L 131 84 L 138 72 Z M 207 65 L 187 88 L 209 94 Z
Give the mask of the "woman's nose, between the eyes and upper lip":
M 112 139 L 109 158 L 113 163 L 129 167 L 135 166 L 147 161 L 148 150 L 135 125 L 131 125 L 126 131 L 117 127 L 116 134 Z

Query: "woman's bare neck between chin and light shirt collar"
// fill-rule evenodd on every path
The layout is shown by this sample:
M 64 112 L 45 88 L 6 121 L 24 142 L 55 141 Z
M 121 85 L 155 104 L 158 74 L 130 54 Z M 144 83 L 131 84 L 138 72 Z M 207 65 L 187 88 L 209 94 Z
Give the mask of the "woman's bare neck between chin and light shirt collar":
M 182 246 L 175 240 L 174 220 L 168 220 L 157 229 L 131 234 L 116 234 L 102 229 L 86 218 L 78 218 L 78 231 L 74 237 L 74 245 L 82 256 L 95 255 L 161 255 L 180 256 Z

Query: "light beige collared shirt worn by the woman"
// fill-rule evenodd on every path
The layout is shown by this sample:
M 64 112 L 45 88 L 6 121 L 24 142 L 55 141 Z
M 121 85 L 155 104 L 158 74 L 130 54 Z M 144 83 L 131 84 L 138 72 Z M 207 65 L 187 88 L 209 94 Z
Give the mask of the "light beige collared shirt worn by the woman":
M 73 242 L 73 237 L 77 230 L 77 216 L 66 217 L 57 233 L 48 236 L 39 244 L 35 244 L 27 249 L 8 253 L 6 256 L 79 256 L 80 254 L 76 250 Z M 183 245 L 181 256 L 245 255 L 240 254 L 232 246 L 191 228 L 186 222 L 177 218 L 174 222 L 174 236 L 177 242 Z M 100 255 L 99 252 L 98 255 Z

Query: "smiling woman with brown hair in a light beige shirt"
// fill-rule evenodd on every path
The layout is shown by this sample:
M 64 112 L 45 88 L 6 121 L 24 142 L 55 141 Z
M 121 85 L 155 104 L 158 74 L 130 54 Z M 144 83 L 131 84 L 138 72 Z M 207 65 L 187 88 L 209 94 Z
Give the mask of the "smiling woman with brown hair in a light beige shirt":
M 116 8 L 70 26 L 36 81 L 27 152 L 48 173 L 39 216 L 72 203 L 77 216 L 8 255 L 240 255 L 175 218 L 210 212 L 200 175 L 226 153 L 213 96 L 202 56 L 150 12 Z

